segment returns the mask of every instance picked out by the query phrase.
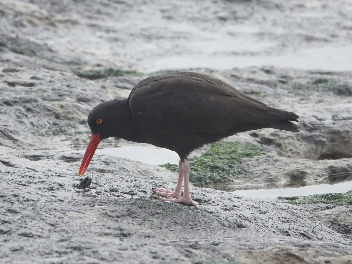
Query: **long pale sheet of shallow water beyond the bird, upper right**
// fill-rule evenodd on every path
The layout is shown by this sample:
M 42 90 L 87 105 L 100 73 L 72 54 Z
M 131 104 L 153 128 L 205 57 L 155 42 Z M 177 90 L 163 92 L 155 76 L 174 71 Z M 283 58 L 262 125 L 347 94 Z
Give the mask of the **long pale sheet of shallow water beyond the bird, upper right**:
M 207 50 L 206 48 L 204 48 Z M 284 55 L 243 55 L 232 56 L 213 52 L 193 55 L 177 55 L 156 59 L 152 71 L 162 69 L 212 68 L 226 70 L 232 68 L 275 65 L 276 67 L 300 68 L 307 70 L 352 70 L 352 46 L 332 46 L 300 49 Z

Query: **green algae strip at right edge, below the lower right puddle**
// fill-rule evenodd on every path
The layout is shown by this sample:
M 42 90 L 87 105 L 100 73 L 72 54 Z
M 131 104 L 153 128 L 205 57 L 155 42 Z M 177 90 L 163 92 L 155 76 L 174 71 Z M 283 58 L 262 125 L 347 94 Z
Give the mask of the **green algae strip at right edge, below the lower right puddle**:
M 314 194 L 307 196 L 278 197 L 283 203 L 307 205 L 310 203 L 326 203 L 332 206 L 352 205 L 352 190 L 347 193 Z

